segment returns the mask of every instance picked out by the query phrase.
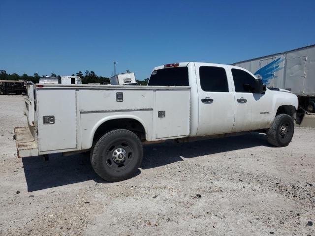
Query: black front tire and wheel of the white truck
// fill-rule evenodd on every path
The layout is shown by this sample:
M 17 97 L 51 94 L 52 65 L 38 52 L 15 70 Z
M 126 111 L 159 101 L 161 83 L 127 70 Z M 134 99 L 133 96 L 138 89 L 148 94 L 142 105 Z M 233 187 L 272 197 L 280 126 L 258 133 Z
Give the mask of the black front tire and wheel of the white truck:
M 288 146 L 294 134 L 294 123 L 292 118 L 286 114 L 275 117 L 267 131 L 268 143 L 276 147 Z

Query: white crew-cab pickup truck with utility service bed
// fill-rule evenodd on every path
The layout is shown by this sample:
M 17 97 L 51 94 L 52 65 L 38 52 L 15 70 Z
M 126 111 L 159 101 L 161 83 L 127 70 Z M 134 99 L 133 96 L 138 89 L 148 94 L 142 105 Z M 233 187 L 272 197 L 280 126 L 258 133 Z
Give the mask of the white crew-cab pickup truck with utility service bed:
M 103 179 L 132 177 L 143 143 L 179 142 L 258 131 L 287 146 L 301 122 L 296 95 L 266 89 L 246 69 L 182 62 L 154 68 L 148 86 L 29 85 L 15 128 L 18 157 L 91 151 Z

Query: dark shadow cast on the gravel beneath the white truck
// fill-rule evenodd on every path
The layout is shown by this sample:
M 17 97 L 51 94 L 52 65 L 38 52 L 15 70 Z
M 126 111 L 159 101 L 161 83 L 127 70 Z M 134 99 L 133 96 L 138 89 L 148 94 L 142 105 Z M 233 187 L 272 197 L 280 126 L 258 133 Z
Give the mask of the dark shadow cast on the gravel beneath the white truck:
M 258 146 L 269 146 L 265 134 L 252 133 L 180 144 L 167 141 L 145 145 L 141 168 L 145 170 L 183 161 L 182 157 L 193 158 Z M 51 154 L 49 161 L 43 161 L 42 157 L 26 157 L 22 158 L 22 162 L 29 192 L 88 180 L 106 183 L 95 174 L 86 154 Z

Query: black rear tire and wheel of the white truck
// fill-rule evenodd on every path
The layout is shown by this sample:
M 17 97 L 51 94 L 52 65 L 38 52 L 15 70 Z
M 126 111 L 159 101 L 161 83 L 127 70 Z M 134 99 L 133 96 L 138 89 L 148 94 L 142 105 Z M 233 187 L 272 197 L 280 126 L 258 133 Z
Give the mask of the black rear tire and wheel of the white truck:
M 91 164 L 101 178 L 121 181 L 136 174 L 143 157 L 142 143 L 126 129 L 104 134 L 92 147 Z

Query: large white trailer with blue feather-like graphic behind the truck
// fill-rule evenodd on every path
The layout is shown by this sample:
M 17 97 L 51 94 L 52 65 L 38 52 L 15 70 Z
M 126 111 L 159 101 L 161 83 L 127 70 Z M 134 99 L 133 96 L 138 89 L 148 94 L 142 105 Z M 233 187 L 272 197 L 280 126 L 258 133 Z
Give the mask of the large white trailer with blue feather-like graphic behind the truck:
M 291 91 L 301 108 L 315 112 L 315 45 L 232 65 L 251 71 L 267 87 Z

